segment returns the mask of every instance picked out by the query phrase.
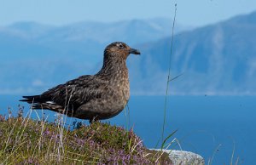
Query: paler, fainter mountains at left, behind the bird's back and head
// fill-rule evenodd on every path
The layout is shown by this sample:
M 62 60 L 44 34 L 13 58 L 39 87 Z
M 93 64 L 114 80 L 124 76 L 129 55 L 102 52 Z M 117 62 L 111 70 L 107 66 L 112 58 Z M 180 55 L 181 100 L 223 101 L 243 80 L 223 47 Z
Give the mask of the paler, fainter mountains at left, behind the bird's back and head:
M 0 94 L 42 91 L 101 67 L 113 41 L 137 45 L 170 35 L 172 19 L 80 22 L 48 26 L 18 22 L 0 27 Z M 177 26 L 177 31 L 186 27 Z

